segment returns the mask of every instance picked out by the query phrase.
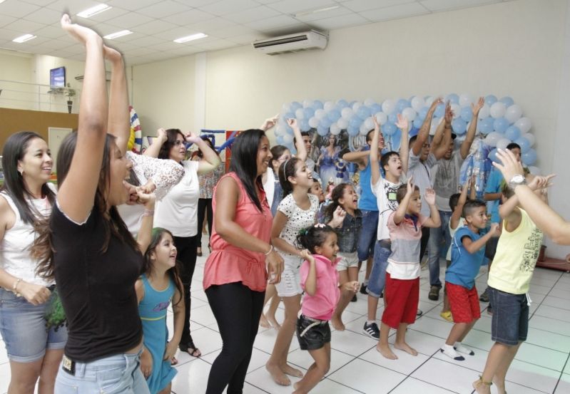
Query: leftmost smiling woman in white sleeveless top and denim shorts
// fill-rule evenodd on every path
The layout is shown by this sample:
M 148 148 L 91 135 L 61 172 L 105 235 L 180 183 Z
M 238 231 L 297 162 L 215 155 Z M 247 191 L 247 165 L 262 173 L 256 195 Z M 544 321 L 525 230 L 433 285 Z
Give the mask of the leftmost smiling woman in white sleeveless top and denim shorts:
M 53 394 L 57 368 L 67 340 L 65 327 L 48 327 L 53 279 L 36 275 L 30 254 L 35 222 L 47 219 L 56 199 L 49 183 L 51 153 L 38 134 L 11 135 L 2 152 L 0 191 L 0 334 L 10 361 L 8 393 Z

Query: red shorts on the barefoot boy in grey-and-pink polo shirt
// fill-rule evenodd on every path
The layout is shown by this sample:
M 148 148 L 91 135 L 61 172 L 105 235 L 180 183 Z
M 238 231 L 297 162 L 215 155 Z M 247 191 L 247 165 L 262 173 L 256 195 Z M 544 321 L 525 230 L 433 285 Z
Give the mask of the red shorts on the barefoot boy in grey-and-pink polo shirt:
M 386 309 L 382 313 L 382 323 L 395 329 L 400 323 L 414 323 L 419 301 L 419 278 L 392 279 L 386 273 L 384 299 Z

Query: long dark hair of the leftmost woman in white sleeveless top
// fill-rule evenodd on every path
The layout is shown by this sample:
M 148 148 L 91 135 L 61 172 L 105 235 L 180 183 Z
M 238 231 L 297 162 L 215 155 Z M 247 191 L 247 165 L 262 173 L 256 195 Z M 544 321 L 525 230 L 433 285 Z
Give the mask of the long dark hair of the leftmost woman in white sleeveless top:
M 34 204 L 29 204 L 26 199 L 34 198 L 30 191 L 26 188 L 24 177 L 18 172 L 18 160 L 22 160 L 26 155 L 31 140 L 41 138 L 41 135 L 33 131 L 21 131 L 10 135 L 4 144 L 2 151 L 2 168 L 4 170 L 4 185 L 1 191 L 6 192 L 16 204 L 16 208 L 20 214 L 22 221 L 26 224 L 34 224 L 41 219 Z M 55 193 L 49 188 L 47 183 L 41 185 L 41 195 L 46 196 L 50 204 L 56 201 Z

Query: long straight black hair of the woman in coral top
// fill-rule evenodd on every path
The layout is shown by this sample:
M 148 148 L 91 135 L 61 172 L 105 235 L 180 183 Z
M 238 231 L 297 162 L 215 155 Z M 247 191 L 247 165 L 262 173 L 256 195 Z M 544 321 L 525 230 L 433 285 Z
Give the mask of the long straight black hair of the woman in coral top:
M 259 129 L 245 130 L 235 138 L 232 146 L 232 160 L 230 171 L 238 175 L 245 191 L 248 192 L 255 207 L 262 212 L 261 202 L 258 197 L 256 187 L 263 190 L 261 175 L 258 176 L 258 149 L 261 138 L 265 137 L 265 132 Z

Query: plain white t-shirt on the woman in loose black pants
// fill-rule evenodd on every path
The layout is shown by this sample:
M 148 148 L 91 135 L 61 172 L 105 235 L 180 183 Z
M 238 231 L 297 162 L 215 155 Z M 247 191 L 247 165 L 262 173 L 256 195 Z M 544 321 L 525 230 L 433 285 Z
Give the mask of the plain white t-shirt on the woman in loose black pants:
M 198 234 L 198 162 L 185 160 L 182 180 L 168 195 L 156 202 L 154 227 L 163 227 L 175 237 L 193 237 Z

